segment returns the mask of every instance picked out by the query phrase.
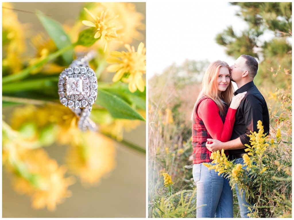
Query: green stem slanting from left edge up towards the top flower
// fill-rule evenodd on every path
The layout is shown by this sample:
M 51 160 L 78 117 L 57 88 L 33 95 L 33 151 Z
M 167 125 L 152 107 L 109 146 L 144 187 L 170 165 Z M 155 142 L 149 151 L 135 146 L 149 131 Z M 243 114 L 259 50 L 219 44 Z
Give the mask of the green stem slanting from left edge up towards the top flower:
M 60 49 L 60 50 L 58 50 L 58 51 L 56 51 L 56 52 L 54 52 L 52 54 L 49 54 L 45 59 L 39 61 L 38 63 L 36 63 L 33 66 L 29 66 L 29 67 L 21 70 L 20 72 L 18 72 L 16 74 L 12 74 L 12 75 L 3 77 L 2 78 L 2 84 L 6 84 L 6 83 L 11 82 L 11 81 L 26 78 L 27 76 L 29 76 L 29 74 L 31 73 L 32 70 L 42 66 L 43 64 L 45 64 L 46 62 L 48 62 L 50 60 L 53 60 L 53 59 L 57 58 L 58 56 L 60 56 L 64 52 L 66 52 L 66 51 L 68 51 L 70 49 L 73 49 L 75 46 L 76 46 L 76 44 L 71 44 L 71 45 L 65 46 L 64 48 L 62 48 L 62 49 Z

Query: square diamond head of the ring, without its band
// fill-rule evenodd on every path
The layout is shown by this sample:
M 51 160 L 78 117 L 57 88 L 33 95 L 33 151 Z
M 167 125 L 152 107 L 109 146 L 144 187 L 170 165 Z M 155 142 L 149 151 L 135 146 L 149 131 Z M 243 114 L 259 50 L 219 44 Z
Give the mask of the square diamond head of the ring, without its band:
M 58 81 L 61 104 L 71 108 L 91 106 L 97 98 L 97 77 L 93 69 L 74 66 L 61 72 Z

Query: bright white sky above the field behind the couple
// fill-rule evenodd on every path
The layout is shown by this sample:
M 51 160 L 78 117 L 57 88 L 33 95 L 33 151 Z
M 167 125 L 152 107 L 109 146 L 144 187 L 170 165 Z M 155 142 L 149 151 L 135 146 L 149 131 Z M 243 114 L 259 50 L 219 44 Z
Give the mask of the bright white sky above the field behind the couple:
M 232 25 L 237 33 L 247 24 L 237 16 L 238 6 L 227 2 L 148 2 L 146 4 L 147 77 L 185 59 L 235 61 L 216 44 L 218 33 Z

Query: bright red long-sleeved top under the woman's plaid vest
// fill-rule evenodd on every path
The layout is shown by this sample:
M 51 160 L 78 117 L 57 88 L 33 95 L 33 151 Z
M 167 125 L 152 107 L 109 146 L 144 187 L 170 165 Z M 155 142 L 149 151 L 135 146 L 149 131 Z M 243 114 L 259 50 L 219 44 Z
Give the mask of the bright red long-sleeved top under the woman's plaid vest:
M 225 123 L 219 115 L 219 108 L 211 99 L 204 99 L 198 104 L 197 115 L 203 121 L 208 133 L 213 139 L 221 142 L 230 140 L 237 109 L 228 109 Z

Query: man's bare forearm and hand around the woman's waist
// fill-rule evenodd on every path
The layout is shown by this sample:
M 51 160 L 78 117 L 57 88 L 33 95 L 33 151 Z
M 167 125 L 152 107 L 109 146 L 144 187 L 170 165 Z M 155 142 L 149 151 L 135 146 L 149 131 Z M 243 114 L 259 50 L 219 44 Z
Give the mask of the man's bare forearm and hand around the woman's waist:
M 209 142 L 213 142 L 211 144 L 208 144 Z M 215 139 L 207 139 L 206 142 L 206 147 L 209 151 L 213 152 L 213 151 L 221 151 L 221 149 L 224 150 L 233 150 L 233 149 L 243 149 L 245 148 L 245 146 L 242 144 L 240 137 L 228 141 L 228 142 L 221 142 Z

